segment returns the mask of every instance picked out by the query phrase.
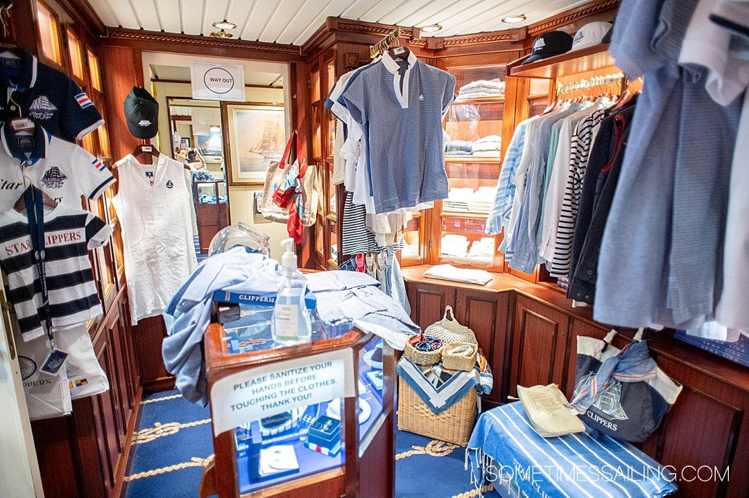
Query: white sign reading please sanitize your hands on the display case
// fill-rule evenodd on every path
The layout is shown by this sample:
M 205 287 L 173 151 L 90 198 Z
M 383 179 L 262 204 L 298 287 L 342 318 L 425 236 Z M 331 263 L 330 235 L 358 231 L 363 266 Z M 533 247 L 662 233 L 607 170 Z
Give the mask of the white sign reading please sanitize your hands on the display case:
M 210 390 L 213 434 L 301 406 L 356 396 L 353 380 L 351 348 L 228 375 Z

